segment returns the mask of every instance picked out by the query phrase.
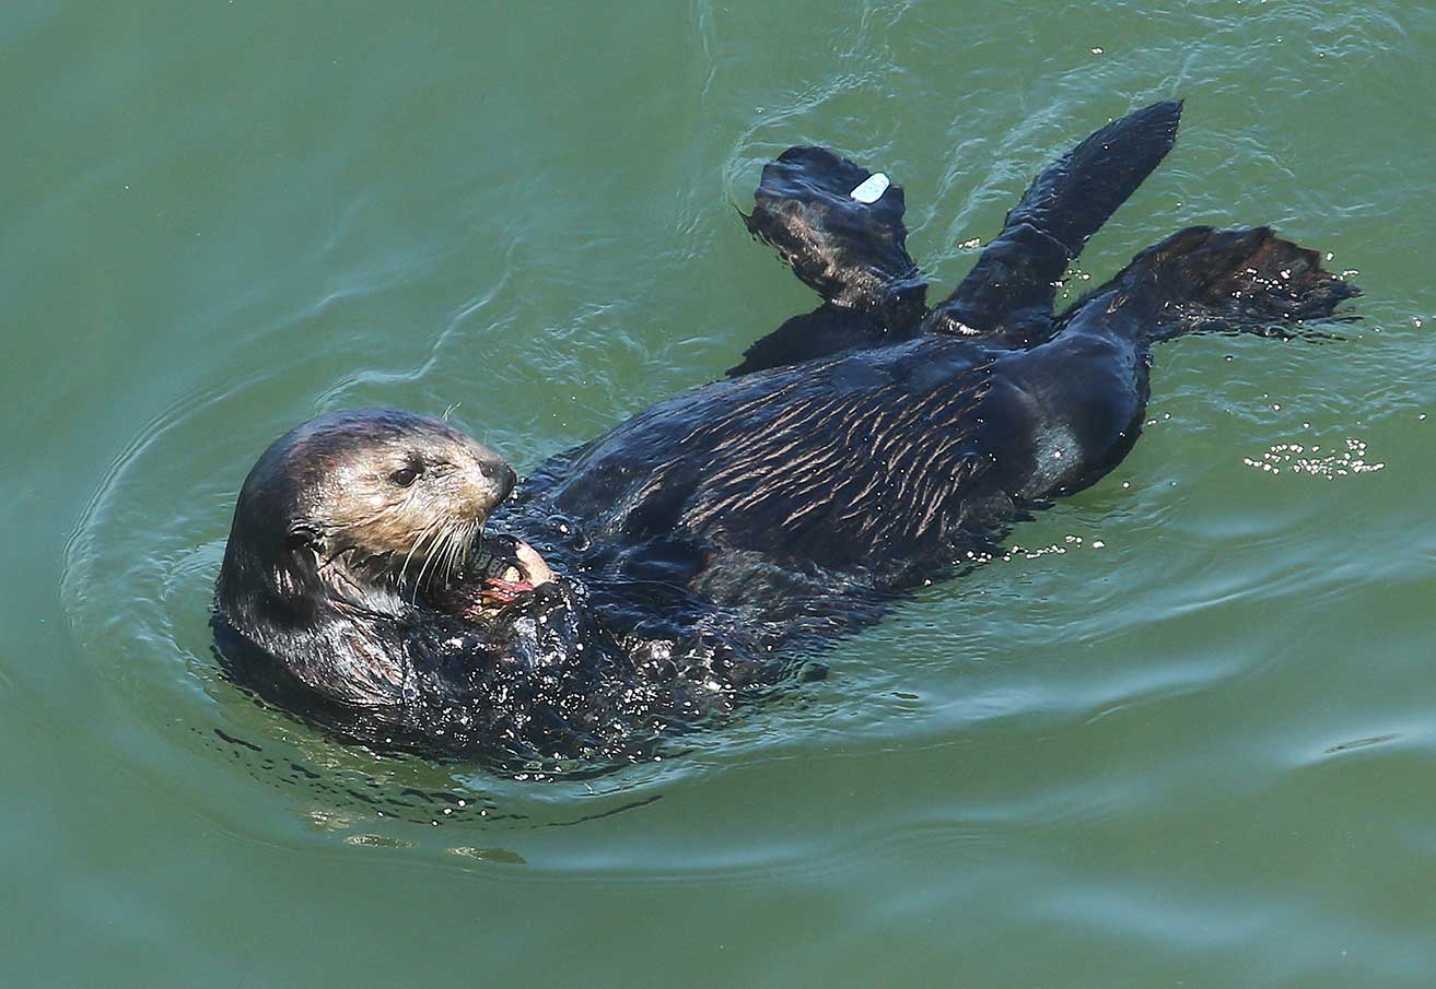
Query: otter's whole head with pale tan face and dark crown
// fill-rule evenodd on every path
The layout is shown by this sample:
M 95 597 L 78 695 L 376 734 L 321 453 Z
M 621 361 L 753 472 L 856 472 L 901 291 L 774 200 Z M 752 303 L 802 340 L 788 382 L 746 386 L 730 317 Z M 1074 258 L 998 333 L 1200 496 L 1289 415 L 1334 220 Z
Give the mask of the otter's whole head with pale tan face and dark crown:
M 503 456 L 398 409 L 310 419 L 276 439 L 240 489 L 218 604 L 243 624 L 302 624 L 326 604 L 395 611 L 447 577 L 514 487 Z M 248 619 L 248 620 L 246 620 Z

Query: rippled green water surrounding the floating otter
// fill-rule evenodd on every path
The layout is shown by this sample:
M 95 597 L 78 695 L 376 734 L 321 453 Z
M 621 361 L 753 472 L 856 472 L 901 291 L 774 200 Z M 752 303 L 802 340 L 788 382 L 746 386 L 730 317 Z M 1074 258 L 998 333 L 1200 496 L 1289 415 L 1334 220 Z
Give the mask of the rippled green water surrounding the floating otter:
M 0 46 L 0 985 L 1436 983 L 1430 9 L 7 0 Z M 531 467 L 810 307 L 734 210 L 788 144 L 890 171 L 952 284 L 1170 95 L 1071 287 L 1272 222 L 1364 322 L 1162 347 L 1133 455 L 829 680 L 534 782 L 217 673 L 290 425 L 460 403 Z

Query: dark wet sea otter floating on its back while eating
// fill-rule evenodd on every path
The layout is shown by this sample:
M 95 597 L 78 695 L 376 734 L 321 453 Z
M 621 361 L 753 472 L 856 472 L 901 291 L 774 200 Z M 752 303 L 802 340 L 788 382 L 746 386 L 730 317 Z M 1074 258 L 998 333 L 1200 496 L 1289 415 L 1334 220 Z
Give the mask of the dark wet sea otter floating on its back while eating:
M 747 222 L 823 303 L 513 498 L 503 458 L 435 419 L 353 411 L 287 433 L 236 508 L 228 665 L 346 732 L 500 761 L 632 756 L 777 683 L 1120 462 L 1153 342 L 1291 336 L 1357 294 L 1271 230 L 1190 227 L 1053 311 L 1180 109 L 1048 167 L 932 309 L 902 188 L 788 149 Z

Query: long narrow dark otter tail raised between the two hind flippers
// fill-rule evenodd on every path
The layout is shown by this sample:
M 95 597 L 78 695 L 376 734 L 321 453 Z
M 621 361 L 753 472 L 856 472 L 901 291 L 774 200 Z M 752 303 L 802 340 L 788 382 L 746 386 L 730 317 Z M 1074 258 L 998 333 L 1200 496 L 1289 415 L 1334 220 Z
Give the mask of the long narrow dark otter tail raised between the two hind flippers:
M 1152 103 L 1048 165 L 926 327 L 1002 334 L 1018 346 L 1044 339 L 1067 264 L 1172 149 L 1180 118 L 1180 100 Z

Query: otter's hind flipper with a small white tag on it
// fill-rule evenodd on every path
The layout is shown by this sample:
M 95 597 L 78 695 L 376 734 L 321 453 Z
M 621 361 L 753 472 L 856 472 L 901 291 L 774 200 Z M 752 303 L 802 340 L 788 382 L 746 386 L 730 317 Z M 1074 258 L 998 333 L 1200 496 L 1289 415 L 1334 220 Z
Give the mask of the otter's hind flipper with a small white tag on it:
M 752 201 L 748 230 L 829 303 L 885 323 L 925 311 L 903 191 L 885 174 L 826 148 L 788 148 L 764 165 Z

